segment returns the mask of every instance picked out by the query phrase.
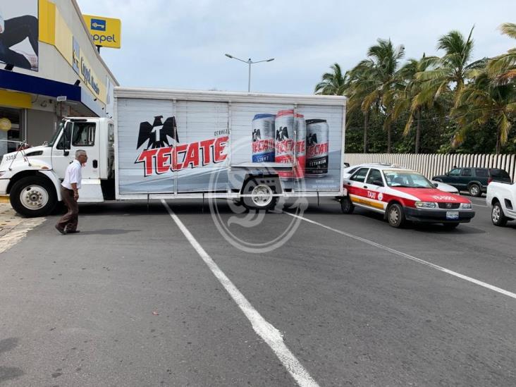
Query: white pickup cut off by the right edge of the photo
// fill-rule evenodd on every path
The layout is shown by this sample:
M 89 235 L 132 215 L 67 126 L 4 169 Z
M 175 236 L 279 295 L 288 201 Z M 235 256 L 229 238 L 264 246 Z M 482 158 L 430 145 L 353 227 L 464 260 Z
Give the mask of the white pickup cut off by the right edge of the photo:
M 505 226 L 516 219 L 516 183 L 489 183 L 486 204 L 492 206 L 491 221 L 495 226 Z

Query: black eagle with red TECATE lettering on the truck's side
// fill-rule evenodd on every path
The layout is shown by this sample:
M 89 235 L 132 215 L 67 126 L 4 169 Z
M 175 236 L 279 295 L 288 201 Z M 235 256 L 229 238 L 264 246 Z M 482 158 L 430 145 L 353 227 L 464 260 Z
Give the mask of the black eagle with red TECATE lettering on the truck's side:
M 227 157 L 228 136 L 179 143 L 176 117 L 155 116 L 152 125 L 140 123 L 136 149 L 142 149 L 135 164 L 143 163 L 144 176 L 161 175 L 187 168 L 217 164 Z

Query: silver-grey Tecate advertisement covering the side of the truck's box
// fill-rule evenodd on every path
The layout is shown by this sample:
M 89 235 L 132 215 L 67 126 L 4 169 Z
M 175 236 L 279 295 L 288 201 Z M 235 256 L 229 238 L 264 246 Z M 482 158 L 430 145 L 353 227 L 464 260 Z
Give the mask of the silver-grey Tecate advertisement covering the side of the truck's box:
M 239 190 L 233 171 L 261 163 L 290 166 L 285 190 L 340 190 L 342 106 L 118 98 L 117 111 L 121 194 Z

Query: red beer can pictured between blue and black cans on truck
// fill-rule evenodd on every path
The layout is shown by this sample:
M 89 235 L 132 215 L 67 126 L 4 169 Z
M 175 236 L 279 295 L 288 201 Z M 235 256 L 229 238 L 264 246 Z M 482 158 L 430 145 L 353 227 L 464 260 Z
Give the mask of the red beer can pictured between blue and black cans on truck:
M 306 123 L 302 114 L 280 110 L 274 123 L 276 130 L 276 163 L 294 164 L 293 171 L 279 171 L 281 178 L 303 178 L 305 176 Z M 296 135 L 294 135 L 294 131 Z M 294 157 L 295 154 L 295 157 Z

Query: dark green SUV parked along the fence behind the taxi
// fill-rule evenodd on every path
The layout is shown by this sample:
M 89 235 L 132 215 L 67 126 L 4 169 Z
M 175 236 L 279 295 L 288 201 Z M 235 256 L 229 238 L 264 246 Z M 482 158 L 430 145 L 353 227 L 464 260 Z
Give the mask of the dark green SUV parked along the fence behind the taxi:
M 498 168 L 453 168 L 441 176 L 434 176 L 432 180 L 442 181 L 453 185 L 459 191 L 469 191 L 469 195 L 481 196 L 487 192 L 487 185 L 491 181 L 505 181 L 511 183 L 509 173 Z

